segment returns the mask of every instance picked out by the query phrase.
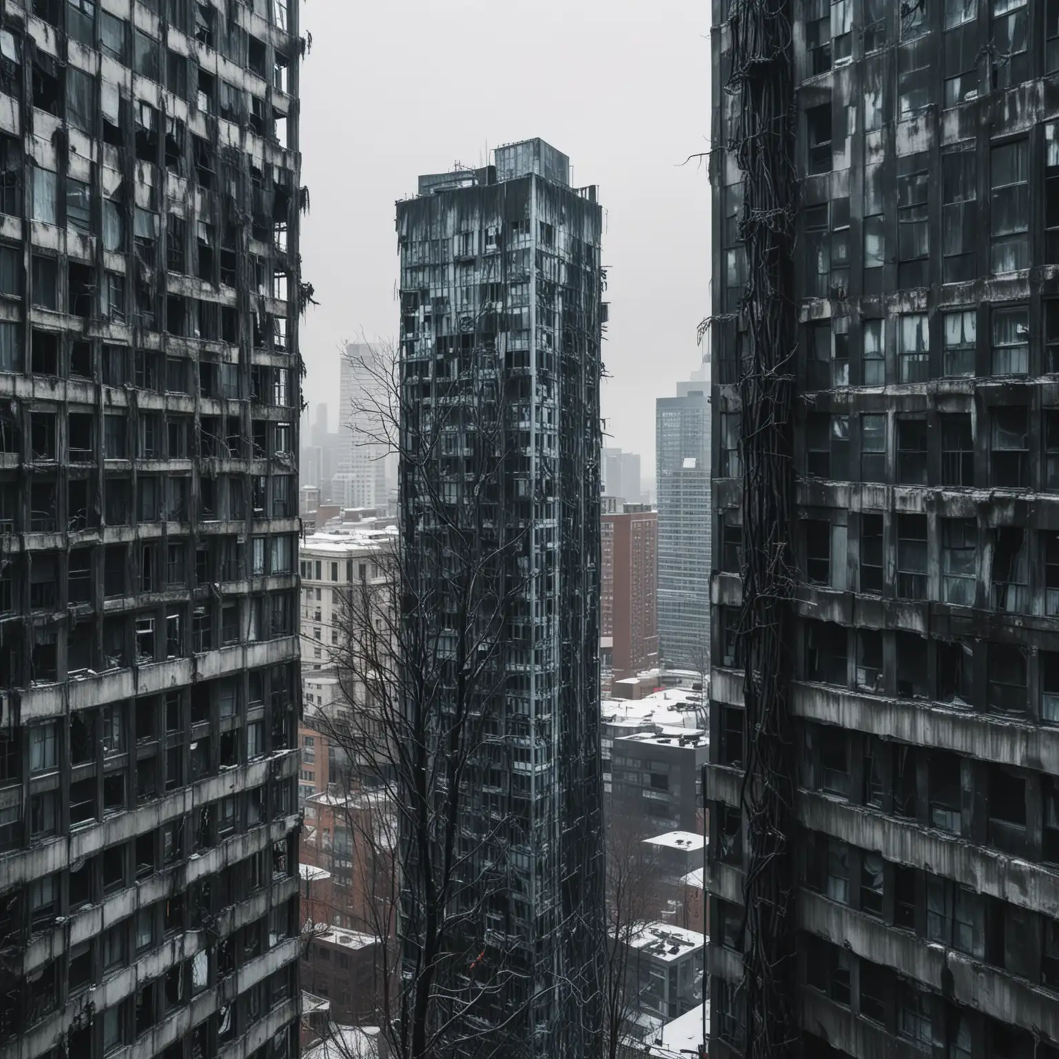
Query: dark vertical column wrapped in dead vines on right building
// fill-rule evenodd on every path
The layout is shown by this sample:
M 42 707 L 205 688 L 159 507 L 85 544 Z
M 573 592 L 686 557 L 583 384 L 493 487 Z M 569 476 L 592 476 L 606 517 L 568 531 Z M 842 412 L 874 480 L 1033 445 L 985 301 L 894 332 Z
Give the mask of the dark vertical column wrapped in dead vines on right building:
M 792 414 L 796 313 L 794 93 L 791 0 L 735 0 L 732 74 L 739 100 L 730 149 L 742 172 L 740 235 L 747 286 L 740 306 L 743 460 L 744 681 L 742 809 L 746 1055 L 801 1051 L 794 922 L 794 752 L 790 716 L 794 556 Z

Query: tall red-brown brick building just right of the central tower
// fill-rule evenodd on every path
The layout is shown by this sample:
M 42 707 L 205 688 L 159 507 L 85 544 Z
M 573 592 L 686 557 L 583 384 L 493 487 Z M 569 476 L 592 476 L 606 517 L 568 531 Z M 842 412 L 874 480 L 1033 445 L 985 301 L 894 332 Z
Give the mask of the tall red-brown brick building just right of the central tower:
M 658 665 L 658 514 L 646 504 L 607 504 L 600 543 L 599 634 L 611 642 L 613 680 Z

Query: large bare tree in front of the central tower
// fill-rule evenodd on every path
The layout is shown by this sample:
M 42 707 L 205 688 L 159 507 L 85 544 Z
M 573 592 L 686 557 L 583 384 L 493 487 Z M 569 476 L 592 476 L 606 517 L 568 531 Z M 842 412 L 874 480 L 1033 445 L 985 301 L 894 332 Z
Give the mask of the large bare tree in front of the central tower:
M 511 922 L 510 851 L 530 836 L 503 649 L 533 574 L 531 519 L 506 516 L 535 498 L 508 491 L 518 425 L 487 344 L 461 343 L 429 382 L 392 348 L 360 369 L 360 443 L 398 454 L 403 518 L 344 600 L 341 702 L 318 723 L 348 761 L 353 869 L 384 943 L 377 1021 L 394 1059 L 517 1056 L 535 968 Z M 355 811 L 365 791 L 379 811 Z

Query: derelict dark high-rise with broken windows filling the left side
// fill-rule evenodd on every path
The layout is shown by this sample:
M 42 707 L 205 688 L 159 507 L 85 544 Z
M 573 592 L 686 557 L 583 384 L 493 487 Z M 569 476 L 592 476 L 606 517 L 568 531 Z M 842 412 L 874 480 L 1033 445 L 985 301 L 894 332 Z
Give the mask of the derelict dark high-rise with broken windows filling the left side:
M 0 1056 L 293 1056 L 298 5 L 0 28 Z

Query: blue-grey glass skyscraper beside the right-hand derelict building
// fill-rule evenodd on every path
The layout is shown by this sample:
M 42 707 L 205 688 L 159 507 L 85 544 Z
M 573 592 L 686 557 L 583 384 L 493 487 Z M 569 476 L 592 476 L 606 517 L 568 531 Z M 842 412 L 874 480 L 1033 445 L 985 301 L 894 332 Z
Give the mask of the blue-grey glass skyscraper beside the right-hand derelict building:
M 659 651 L 671 668 L 700 671 L 710 660 L 708 393 L 708 376 L 681 382 L 657 414 Z

